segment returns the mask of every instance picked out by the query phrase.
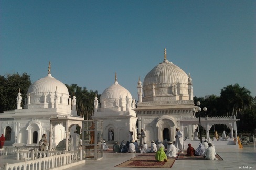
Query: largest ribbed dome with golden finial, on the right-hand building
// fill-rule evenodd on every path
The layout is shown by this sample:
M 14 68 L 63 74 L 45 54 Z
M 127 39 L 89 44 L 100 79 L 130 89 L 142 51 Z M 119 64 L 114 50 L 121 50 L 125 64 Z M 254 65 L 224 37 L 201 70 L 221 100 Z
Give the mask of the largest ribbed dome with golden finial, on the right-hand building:
M 163 98 L 156 97 L 163 96 L 173 96 L 168 100 L 186 100 L 189 97 L 190 79 L 180 67 L 166 59 L 165 49 L 164 61 L 155 66 L 144 78 L 143 101 L 162 100 Z

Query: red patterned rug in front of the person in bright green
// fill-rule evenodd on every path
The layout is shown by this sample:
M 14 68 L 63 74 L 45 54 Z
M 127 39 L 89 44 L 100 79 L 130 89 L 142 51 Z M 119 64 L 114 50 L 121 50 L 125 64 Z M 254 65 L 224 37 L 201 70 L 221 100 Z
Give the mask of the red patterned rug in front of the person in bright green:
M 175 157 L 167 157 L 167 162 L 157 162 L 155 160 L 156 153 L 143 153 L 128 161 L 125 161 L 115 167 L 132 167 L 132 168 L 171 168 L 176 160 Z

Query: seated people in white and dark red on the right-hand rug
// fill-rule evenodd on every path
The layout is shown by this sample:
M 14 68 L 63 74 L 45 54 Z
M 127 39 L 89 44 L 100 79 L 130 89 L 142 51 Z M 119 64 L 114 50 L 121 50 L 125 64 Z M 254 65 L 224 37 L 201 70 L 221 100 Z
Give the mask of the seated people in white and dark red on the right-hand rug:
M 191 144 L 188 144 L 187 156 L 203 156 L 206 160 L 218 160 L 215 157 L 215 147 L 206 139 L 203 143 L 199 143 L 198 148 L 195 150 Z

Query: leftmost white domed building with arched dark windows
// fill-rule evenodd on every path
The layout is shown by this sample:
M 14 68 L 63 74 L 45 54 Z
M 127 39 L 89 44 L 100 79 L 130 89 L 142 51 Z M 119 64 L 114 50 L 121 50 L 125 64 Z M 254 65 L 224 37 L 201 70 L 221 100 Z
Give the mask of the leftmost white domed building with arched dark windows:
M 49 140 L 51 116 L 78 117 L 76 97 L 73 96 L 71 106 L 68 88 L 51 76 L 50 63 L 48 68 L 47 76 L 35 81 L 28 88 L 25 108 L 20 106 L 22 97 L 18 93 L 17 109 L 0 114 L 1 134 L 6 137 L 5 146 L 38 145 L 44 133 Z M 52 131 L 53 146 L 67 136 L 62 125 L 54 126 Z

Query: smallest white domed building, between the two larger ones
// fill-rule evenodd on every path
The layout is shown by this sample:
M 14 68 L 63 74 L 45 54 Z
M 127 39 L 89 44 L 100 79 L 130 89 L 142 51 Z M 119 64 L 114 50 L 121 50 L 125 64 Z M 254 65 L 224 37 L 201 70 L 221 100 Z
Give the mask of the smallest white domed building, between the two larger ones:
M 131 93 L 118 84 L 116 73 L 115 82 L 106 88 L 100 97 L 100 106 L 98 99 L 94 100 L 93 120 L 103 120 L 103 139 L 108 141 L 109 131 L 113 134 L 113 140 L 128 141 L 129 131 L 133 131 L 133 139 L 136 138 L 137 117 L 134 110 L 135 99 L 132 99 Z

